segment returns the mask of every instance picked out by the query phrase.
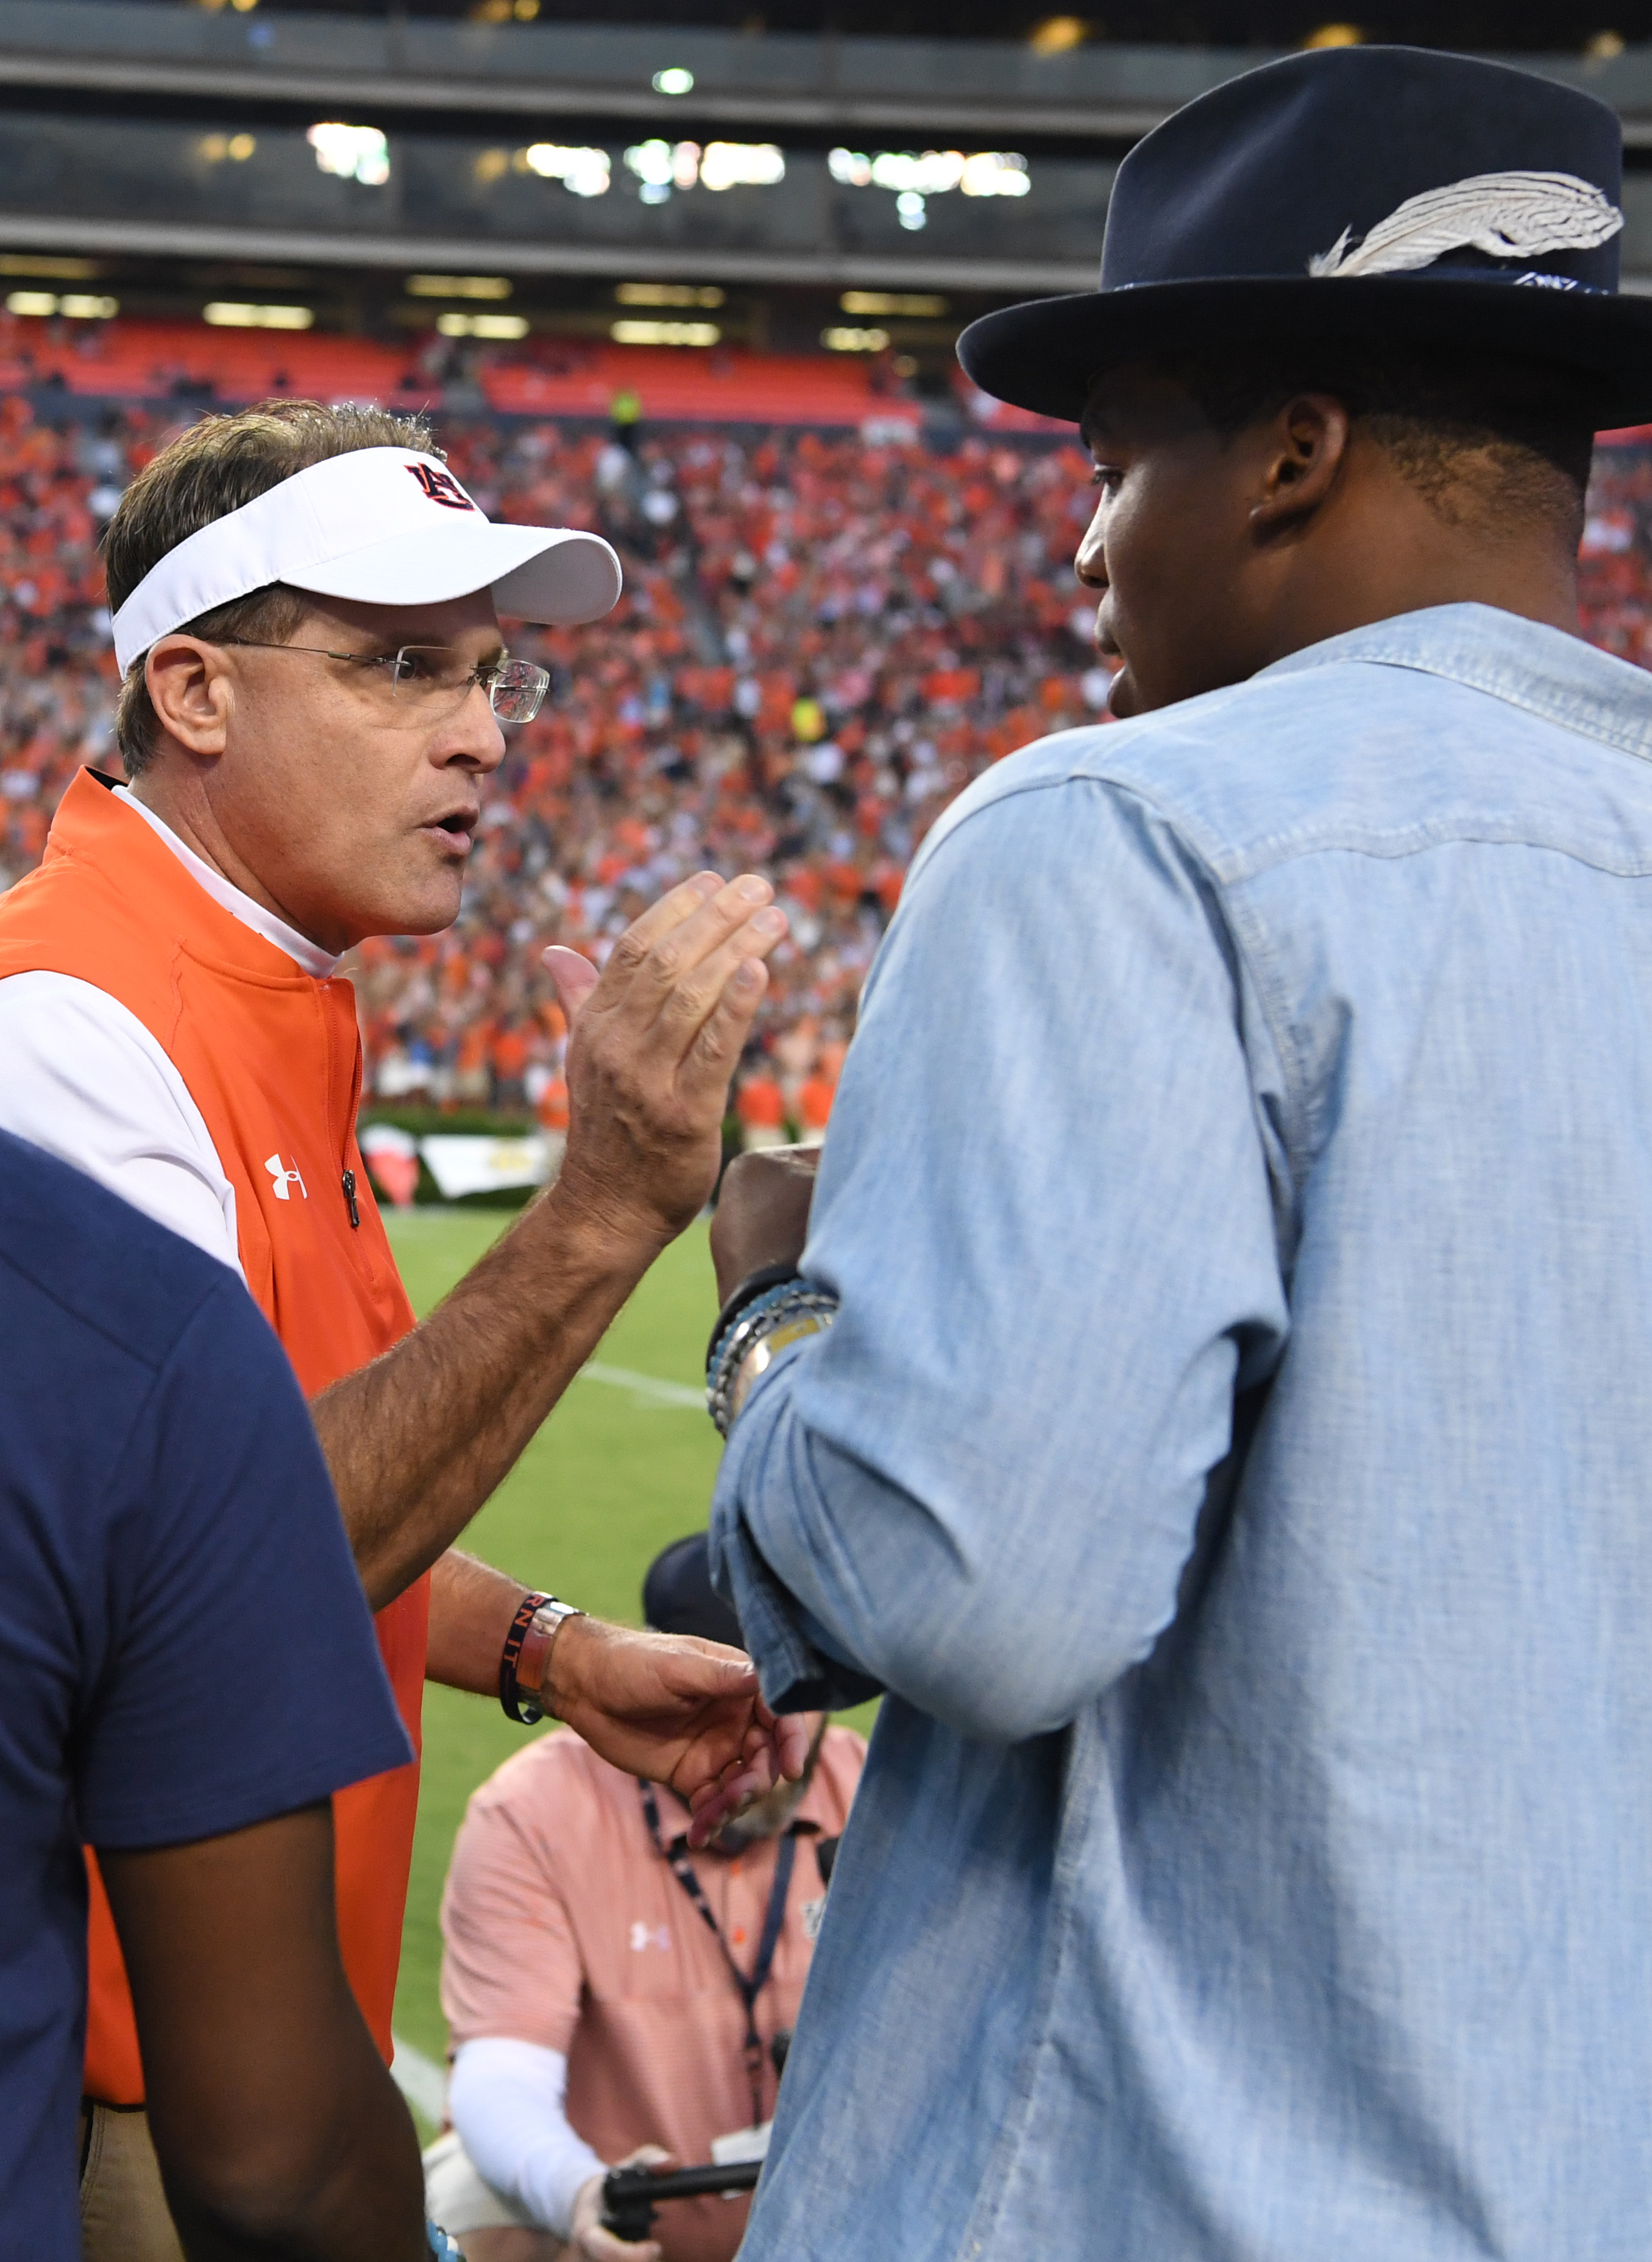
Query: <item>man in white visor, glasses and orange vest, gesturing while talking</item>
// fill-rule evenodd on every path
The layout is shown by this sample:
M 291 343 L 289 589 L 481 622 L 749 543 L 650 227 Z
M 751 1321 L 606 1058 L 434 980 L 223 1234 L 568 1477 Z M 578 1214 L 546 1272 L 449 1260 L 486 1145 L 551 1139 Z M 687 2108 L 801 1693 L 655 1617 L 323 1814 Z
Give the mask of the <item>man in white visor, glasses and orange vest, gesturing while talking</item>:
M 498 613 L 597 620 L 618 559 L 591 534 L 489 525 L 416 423 L 276 403 L 165 448 L 111 520 L 106 570 L 129 783 L 81 771 L 0 905 L 0 1124 L 242 1274 L 312 1400 L 414 1749 L 432 1674 L 511 1717 L 554 1710 L 711 1828 L 803 1760 L 747 1660 L 602 1626 L 450 1543 L 706 1201 L 785 921 L 767 882 L 706 873 L 600 979 L 552 952 L 575 1020 L 561 1179 L 421 1328 L 355 1145 L 362 1052 L 335 970 L 362 936 L 453 923 L 500 724 L 548 683 Z M 247 1683 L 204 1706 L 256 1701 L 258 1644 L 249 1592 Z M 385 2054 L 416 1792 L 405 1764 L 335 1801 L 339 1941 Z M 120 2221 L 109 2253 L 172 2262 L 97 1891 L 86 2086 L 120 2183 L 95 2194 Z

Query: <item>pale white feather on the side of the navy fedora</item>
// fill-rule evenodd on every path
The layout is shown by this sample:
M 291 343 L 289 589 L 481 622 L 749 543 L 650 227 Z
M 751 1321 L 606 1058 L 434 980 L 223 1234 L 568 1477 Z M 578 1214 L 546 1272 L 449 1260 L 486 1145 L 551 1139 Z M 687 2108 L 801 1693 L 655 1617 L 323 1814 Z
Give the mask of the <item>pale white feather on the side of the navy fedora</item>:
M 1358 251 L 1349 251 L 1353 228 L 1344 228 L 1328 251 L 1308 260 L 1308 274 L 1410 274 L 1464 247 L 1500 260 L 1593 251 L 1620 226 L 1618 206 L 1573 172 L 1475 172 L 1451 188 L 1408 197 L 1367 231 Z

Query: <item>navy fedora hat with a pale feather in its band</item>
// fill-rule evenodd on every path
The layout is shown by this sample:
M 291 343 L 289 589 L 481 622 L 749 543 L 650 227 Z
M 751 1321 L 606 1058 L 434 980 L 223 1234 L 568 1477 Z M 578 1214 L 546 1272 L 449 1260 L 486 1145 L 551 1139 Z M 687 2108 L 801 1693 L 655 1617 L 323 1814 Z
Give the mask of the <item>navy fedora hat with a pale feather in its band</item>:
M 1328 48 L 1188 102 L 1118 167 L 1100 290 L 973 321 L 982 391 L 1077 423 L 1120 362 L 1272 342 L 1516 353 L 1598 425 L 1652 418 L 1652 301 L 1618 296 L 1623 131 L 1507 63 Z

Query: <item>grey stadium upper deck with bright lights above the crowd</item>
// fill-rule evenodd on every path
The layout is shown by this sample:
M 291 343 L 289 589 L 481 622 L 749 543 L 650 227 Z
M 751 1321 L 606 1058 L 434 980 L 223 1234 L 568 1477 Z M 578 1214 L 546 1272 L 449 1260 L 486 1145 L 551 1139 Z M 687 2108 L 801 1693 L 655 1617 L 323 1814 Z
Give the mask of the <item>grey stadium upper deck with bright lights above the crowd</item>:
M 396 271 L 505 276 L 534 328 L 634 276 L 722 290 L 711 326 L 758 346 L 819 351 L 844 290 L 944 294 L 885 314 L 955 330 L 1086 287 L 1132 140 L 1267 52 L 514 20 L 539 11 L 0 0 L 0 247 L 102 265 L 149 314 L 217 262 L 285 269 L 344 330 L 405 317 Z M 1652 48 L 1521 59 L 1652 154 Z M 1652 285 L 1652 172 L 1625 210 Z

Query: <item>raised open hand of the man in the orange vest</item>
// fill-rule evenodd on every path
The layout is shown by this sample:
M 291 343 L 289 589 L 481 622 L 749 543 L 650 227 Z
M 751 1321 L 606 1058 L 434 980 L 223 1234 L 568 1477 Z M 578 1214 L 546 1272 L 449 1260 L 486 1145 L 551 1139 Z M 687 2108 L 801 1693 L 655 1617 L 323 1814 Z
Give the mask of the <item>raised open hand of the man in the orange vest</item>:
M 573 1029 L 563 1201 L 659 1246 L 706 1206 L 763 959 L 785 934 L 772 893 L 756 873 L 699 873 L 625 930 L 600 977 L 575 950 L 545 952 Z

